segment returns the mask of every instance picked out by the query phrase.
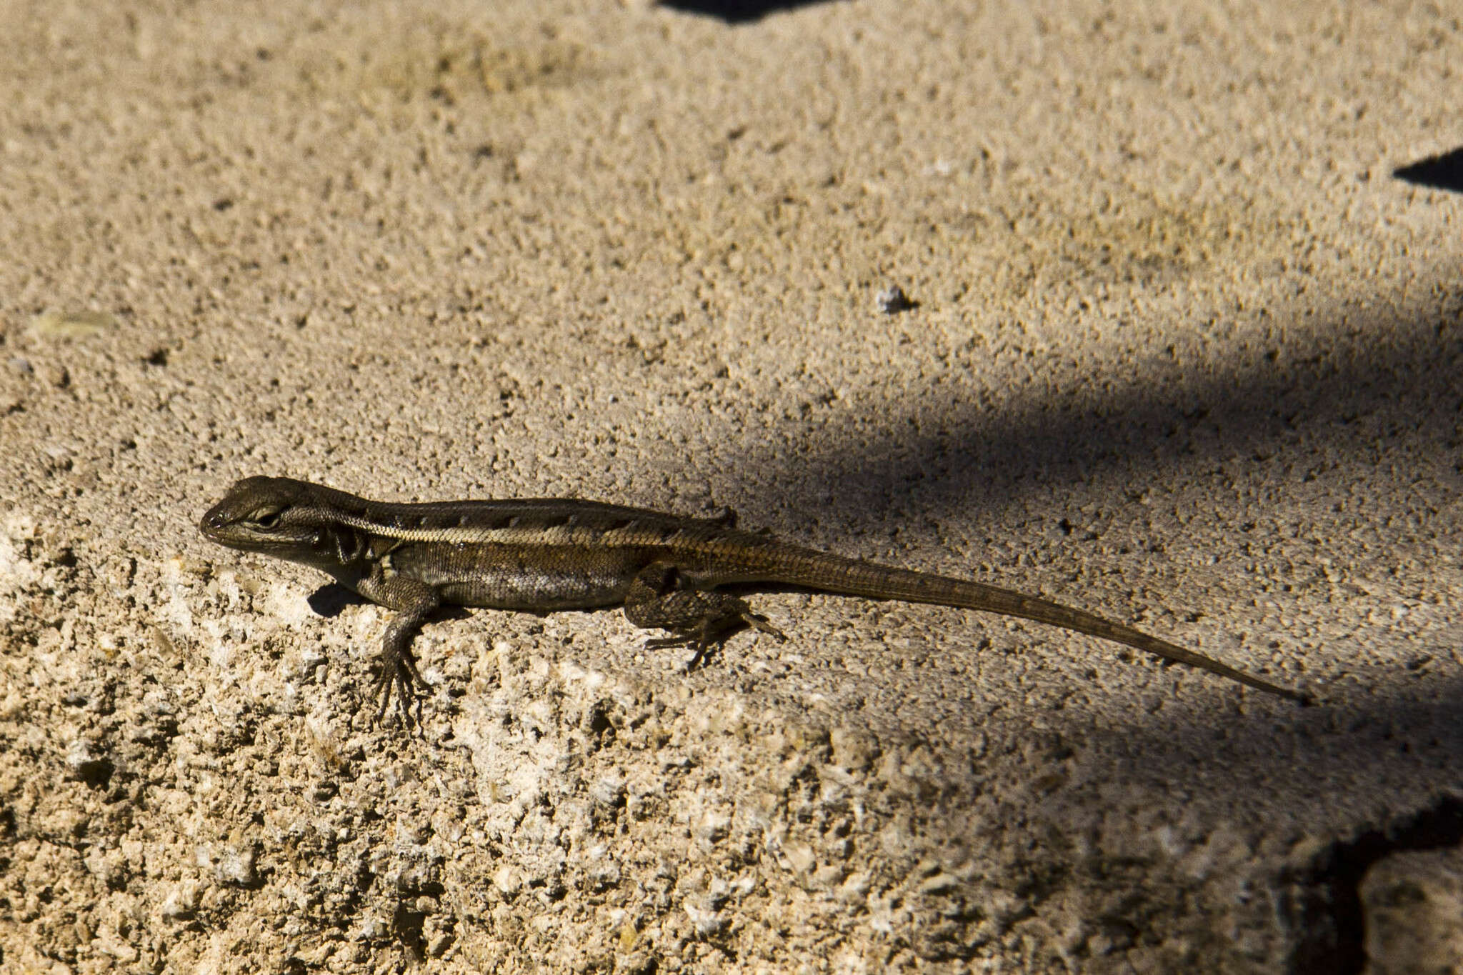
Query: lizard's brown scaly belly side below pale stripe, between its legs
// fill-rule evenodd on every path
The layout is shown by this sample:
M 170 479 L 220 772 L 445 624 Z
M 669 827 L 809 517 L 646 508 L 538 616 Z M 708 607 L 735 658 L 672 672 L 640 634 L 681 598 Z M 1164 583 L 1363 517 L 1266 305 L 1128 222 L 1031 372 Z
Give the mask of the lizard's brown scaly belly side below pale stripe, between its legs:
M 622 604 L 645 557 L 633 548 L 461 544 L 402 545 L 382 561 L 443 602 L 541 612 Z

